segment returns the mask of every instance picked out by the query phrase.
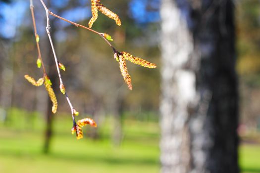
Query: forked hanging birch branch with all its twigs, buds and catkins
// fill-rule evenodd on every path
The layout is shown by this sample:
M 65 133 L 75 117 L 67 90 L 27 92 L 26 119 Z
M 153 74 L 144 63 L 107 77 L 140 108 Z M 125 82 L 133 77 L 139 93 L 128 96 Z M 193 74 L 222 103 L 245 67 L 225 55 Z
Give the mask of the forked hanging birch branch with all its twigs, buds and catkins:
M 77 135 L 77 139 L 80 139 L 83 137 L 83 131 L 82 131 L 82 127 L 89 124 L 93 127 L 97 127 L 97 124 L 94 120 L 90 119 L 90 118 L 85 118 L 83 120 L 79 120 L 77 123 L 75 121 L 75 116 L 77 116 L 79 113 L 74 109 L 69 97 L 68 97 L 68 94 L 65 90 L 65 86 L 64 86 L 64 83 L 62 81 L 62 76 L 61 76 L 61 73 L 60 73 L 60 69 L 62 70 L 65 70 L 65 67 L 59 63 L 58 61 L 58 58 L 57 58 L 57 55 L 56 55 L 56 52 L 55 52 L 55 49 L 54 49 L 54 45 L 53 45 L 53 42 L 52 42 L 52 36 L 51 36 L 51 26 L 50 26 L 50 18 L 49 16 L 52 15 L 58 19 L 61 19 L 63 21 L 66 21 L 76 27 L 81 27 L 81 28 L 84 28 L 88 31 L 91 31 L 95 34 L 98 34 L 100 37 L 102 37 L 104 39 L 104 41 L 111 47 L 113 53 L 114 53 L 114 59 L 119 63 L 119 68 L 120 68 L 120 71 L 121 71 L 121 74 L 124 78 L 124 81 L 126 82 L 126 84 L 128 85 L 129 89 L 132 90 L 132 84 L 131 84 L 131 77 L 128 73 L 128 70 L 127 70 L 127 67 L 126 67 L 126 61 L 125 60 L 128 60 L 134 64 L 138 64 L 138 65 L 141 65 L 143 67 L 148 67 L 148 68 L 156 68 L 156 64 L 153 64 L 153 63 L 150 63 L 144 59 L 141 59 L 141 58 L 138 58 L 138 57 L 134 57 L 133 55 L 127 53 L 127 52 L 119 52 L 117 51 L 114 46 L 109 42 L 109 41 L 113 41 L 113 39 L 111 38 L 111 36 L 109 36 L 108 34 L 105 34 L 105 33 L 100 33 L 100 32 L 97 32 L 93 29 L 91 29 L 93 23 L 95 22 L 95 20 L 98 18 L 98 10 L 101 11 L 104 15 L 106 15 L 107 17 L 115 20 L 116 24 L 118 26 L 121 25 L 121 21 L 119 19 L 119 17 L 117 16 L 117 14 L 113 13 L 112 11 L 110 11 L 109 9 L 107 9 L 106 7 L 104 7 L 104 5 L 100 2 L 100 0 L 91 0 L 92 2 L 92 15 L 93 17 L 91 18 L 90 22 L 89 22 L 89 27 L 86 27 L 86 26 L 83 26 L 83 25 L 80 25 L 78 23 L 75 23 L 75 22 L 72 22 L 70 20 L 67 20 L 61 16 L 58 16 L 56 14 L 54 14 L 52 11 L 49 10 L 49 8 L 46 6 L 45 2 L 43 0 L 40 0 L 45 11 L 46 11 L 46 19 L 47 19 L 47 26 L 46 26 L 46 32 L 47 32 L 47 35 L 48 35 L 48 38 L 49 38 L 49 41 L 51 43 L 51 47 L 52 47 L 52 53 L 53 53 L 53 56 L 54 56 L 54 60 L 55 60 L 55 65 L 56 65 L 56 70 L 57 70 L 57 73 L 58 73 L 58 78 L 59 78 L 59 82 L 60 82 L 60 85 L 59 85 L 59 88 L 60 88 L 60 91 L 62 92 L 62 94 L 65 95 L 66 99 L 67 99 L 67 102 L 69 104 L 69 107 L 71 109 L 71 116 L 72 116 L 72 120 L 73 120 L 73 128 L 72 128 L 72 133 L 76 132 L 76 135 Z M 34 86 L 41 86 L 42 84 L 45 85 L 48 93 L 49 93 L 49 96 L 52 100 L 52 112 L 55 113 L 56 110 L 57 110 L 57 100 L 56 100 L 56 96 L 53 92 L 53 89 L 52 89 L 52 83 L 50 81 L 50 79 L 48 78 L 47 76 L 47 73 L 46 73 L 46 69 L 45 69 L 45 66 L 44 66 L 44 63 L 43 63 L 43 59 L 42 59 L 42 55 L 41 55 L 41 50 L 40 50 L 40 45 L 39 45 L 39 35 L 37 34 L 37 29 L 36 29 L 36 22 L 35 22 L 35 17 L 34 17 L 34 6 L 33 6 L 33 0 L 30 0 L 30 8 L 31 8 L 31 13 L 32 13 L 32 19 L 33 19 L 33 26 L 34 26 L 34 34 L 35 34 L 35 38 L 36 38 L 36 44 L 37 44 L 37 49 L 38 49 L 38 60 L 37 60 L 37 65 L 38 67 L 40 68 L 41 65 L 43 67 L 43 72 L 44 72 L 44 77 L 39 79 L 38 81 L 35 81 L 34 78 L 28 76 L 28 75 L 25 75 L 25 78 Z

